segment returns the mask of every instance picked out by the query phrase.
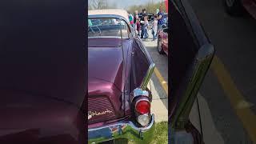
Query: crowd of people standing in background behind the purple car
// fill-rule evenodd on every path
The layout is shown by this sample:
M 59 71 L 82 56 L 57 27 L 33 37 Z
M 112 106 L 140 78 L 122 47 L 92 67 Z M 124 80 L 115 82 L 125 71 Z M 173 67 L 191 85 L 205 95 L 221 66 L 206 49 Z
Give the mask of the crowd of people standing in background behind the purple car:
M 157 38 L 159 30 L 161 30 L 162 25 L 165 23 L 164 13 L 162 11 L 162 6 L 159 7 L 157 14 L 153 15 L 152 26 L 149 25 L 149 16 L 146 13 L 146 9 L 142 9 L 142 13 L 138 14 L 138 10 L 134 11 L 134 14 L 129 13 L 130 25 L 133 26 L 136 34 L 143 39 L 149 38 L 148 31 L 152 29 L 153 41 Z M 139 18 L 141 15 L 141 18 Z

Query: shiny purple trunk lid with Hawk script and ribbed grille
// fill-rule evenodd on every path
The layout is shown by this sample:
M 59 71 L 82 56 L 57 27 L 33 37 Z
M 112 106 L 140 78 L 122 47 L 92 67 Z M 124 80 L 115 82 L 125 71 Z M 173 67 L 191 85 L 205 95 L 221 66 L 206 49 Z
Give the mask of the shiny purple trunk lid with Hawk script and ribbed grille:
M 122 118 L 125 66 L 121 39 L 90 38 L 88 42 L 89 124 Z

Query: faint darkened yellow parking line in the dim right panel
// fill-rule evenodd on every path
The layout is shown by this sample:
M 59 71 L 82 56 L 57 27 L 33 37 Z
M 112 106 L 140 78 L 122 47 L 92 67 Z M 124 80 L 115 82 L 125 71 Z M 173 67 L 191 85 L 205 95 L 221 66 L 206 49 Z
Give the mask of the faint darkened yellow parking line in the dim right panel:
M 231 106 L 238 115 L 238 118 L 242 121 L 242 125 L 247 131 L 247 134 L 249 134 L 252 142 L 256 143 L 256 116 L 254 112 L 250 110 L 250 106 L 246 106 L 247 102 L 245 98 L 243 98 L 241 92 L 235 86 L 221 60 L 215 56 L 211 66 L 224 93 L 227 98 L 229 98 Z M 242 103 L 244 103 L 244 106 L 241 106 Z

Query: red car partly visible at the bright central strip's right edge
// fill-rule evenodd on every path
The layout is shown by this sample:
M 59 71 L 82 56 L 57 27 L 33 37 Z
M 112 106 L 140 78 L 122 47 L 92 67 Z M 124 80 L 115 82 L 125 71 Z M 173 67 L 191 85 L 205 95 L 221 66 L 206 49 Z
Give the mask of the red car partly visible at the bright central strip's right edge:
M 168 55 L 168 27 L 163 25 L 158 34 L 158 53 Z

